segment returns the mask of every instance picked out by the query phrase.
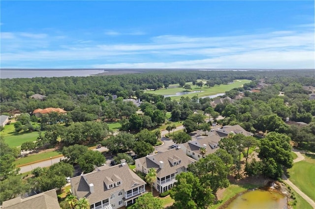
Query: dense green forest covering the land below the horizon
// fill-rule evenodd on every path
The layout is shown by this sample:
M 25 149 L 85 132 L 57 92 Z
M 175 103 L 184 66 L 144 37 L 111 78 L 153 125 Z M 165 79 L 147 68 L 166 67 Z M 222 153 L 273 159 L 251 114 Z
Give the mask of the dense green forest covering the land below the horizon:
M 154 90 L 168 88 L 171 84 L 178 84 L 185 88 L 187 82 L 202 85 L 201 80 L 206 80 L 208 88 L 211 88 L 233 82 L 235 79 L 249 79 L 251 82 L 225 92 L 221 97 L 229 97 L 233 102 L 224 100 L 225 102 L 216 106 L 211 105 L 214 99 L 210 98 L 197 96 L 189 98 L 184 95 L 176 101 L 170 97 L 154 94 Z M 258 157 L 261 159 L 259 162 L 251 163 L 246 159 L 247 175 L 264 175 L 273 179 L 281 177 L 284 172 L 283 166 L 286 168 L 292 166 L 292 157 L 288 152 L 291 149 L 290 141 L 298 148 L 315 152 L 315 100 L 309 99 L 310 94 L 313 93 L 309 86 L 315 87 L 313 71 L 160 70 L 116 76 L 14 78 L 1 79 L 0 82 L 1 114 L 11 116 L 16 111 L 21 112 L 14 124 L 17 133 L 38 131 L 36 142 L 22 144 L 21 149 L 59 146 L 63 149 L 63 155 L 68 156 L 67 162 L 70 163 L 32 171 L 34 176 L 28 180 L 28 185 L 31 187 L 26 188 L 25 183 L 16 178 L 18 170 L 13 164 L 18 157 L 18 148 L 5 145 L 1 139 L 1 187 L 9 187 L 12 182 L 23 185 L 14 188 L 15 191 L 9 189 L 11 193 L 2 193 L 2 190 L 1 202 L 25 190 L 48 190 L 53 186 L 51 180 L 59 181 L 58 185 L 62 186 L 64 178 L 62 181 L 61 178 L 56 177 L 56 174 L 68 170 L 70 173 L 62 175 L 72 176 L 72 164 L 80 164 L 87 172 L 93 170 L 93 164 L 101 165 L 105 158 L 88 151 L 85 145 L 100 143 L 115 154 L 132 150 L 139 157 L 146 156 L 154 151 L 153 146 L 157 145 L 161 137 L 160 126 L 166 124 L 170 136 L 170 131 L 174 127 L 167 124 L 177 121 L 181 121 L 185 127 L 185 132 L 173 133 L 173 140 L 178 143 L 190 140 L 189 133 L 192 131 L 202 130 L 206 134 L 210 131 L 210 120 L 221 126 L 238 124 L 246 131 L 255 134 L 256 138 L 244 138 L 236 134 L 221 140 L 220 148 L 226 151 L 225 156 L 230 155 L 227 158 L 231 158 L 225 164 L 233 164 L 224 171 L 225 176 L 231 172 L 239 174 L 240 160 L 238 159 L 241 154 L 243 155 L 246 146 L 248 150 L 253 146 L 259 147 Z M 261 83 L 264 84 L 263 87 L 257 88 Z M 146 91 L 147 89 L 153 91 Z M 257 91 L 251 91 L 252 89 Z M 33 94 L 46 97 L 42 101 L 35 100 L 31 98 Z M 237 99 L 240 95 L 241 98 Z M 140 106 L 124 101 L 127 98 L 140 99 Z M 41 118 L 29 114 L 34 109 L 46 107 L 60 107 L 66 110 L 67 114 L 53 112 Z M 169 121 L 166 120 L 167 113 L 170 114 Z M 206 120 L 208 116 L 209 121 Z M 222 118 L 218 119 L 219 116 Z M 287 118 L 306 125 L 288 125 Z M 116 135 L 111 134 L 107 125 L 107 122 L 113 121 L 121 124 L 121 132 Z M 32 123 L 40 125 L 35 127 Z M 269 154 L 271 149 L 282 153 L 283 156 L 271 156 Z M 79 153 L 83 155 L 80 156 Z M 194 167 L 191 166 L 190 169 L 195 177 L 208 178 L 206 171 L 197 173 L 197 168 L 204 167 L 202 163 L 206 163 L 208 158 L 217 160 L 217 155 L 223 154 L 217 153 L 206 157 Z M 218 159 L 218 163 L 219 161 Z M 223 166 L 224 163 L 221 161 L 220 163 Z M 71 166 L 68 169 L 69 165 Z M 41 183 L 43 181 L 47 183 L 43 185 Z M 218 188 L 228 185 L 226 180 L 222 181 L 222 185 L 207 184 L 207 188 L 211 187 L 212 190 L 217 191 Z M 174 193 L 172 195 L 176 196 Z

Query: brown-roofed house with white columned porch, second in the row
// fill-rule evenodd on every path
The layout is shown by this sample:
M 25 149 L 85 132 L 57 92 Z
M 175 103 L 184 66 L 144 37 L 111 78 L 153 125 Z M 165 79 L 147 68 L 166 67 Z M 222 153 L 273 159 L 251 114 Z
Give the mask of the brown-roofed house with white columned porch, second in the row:
M 153 186 L 160 193 L 172 188 L 176 175 L 186 172 L 192 162 L 195 160 L 188 157 L 180 147 L 135 160 L 137 171 L 147 174 L 150 168 L 156 169 L 157 179 Z

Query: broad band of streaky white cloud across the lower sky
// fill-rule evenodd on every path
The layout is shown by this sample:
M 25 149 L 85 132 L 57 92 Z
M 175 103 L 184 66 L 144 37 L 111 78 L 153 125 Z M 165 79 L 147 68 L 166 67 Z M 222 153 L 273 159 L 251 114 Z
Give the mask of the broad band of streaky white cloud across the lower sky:
M 128 34 L 114 30 L 107 33 Z M 142 33 L 135 31 L 135 34 Z M 315 34 L 310 28 L 221 37 L 160 35 L 130 44 L 101 44 L 91 36 L 89 40 L 58 37 L 42 33 L 1 33 L 1 65 L 71 60 L 97 63 L 82 66 L 94 68 L 315 67 Z

